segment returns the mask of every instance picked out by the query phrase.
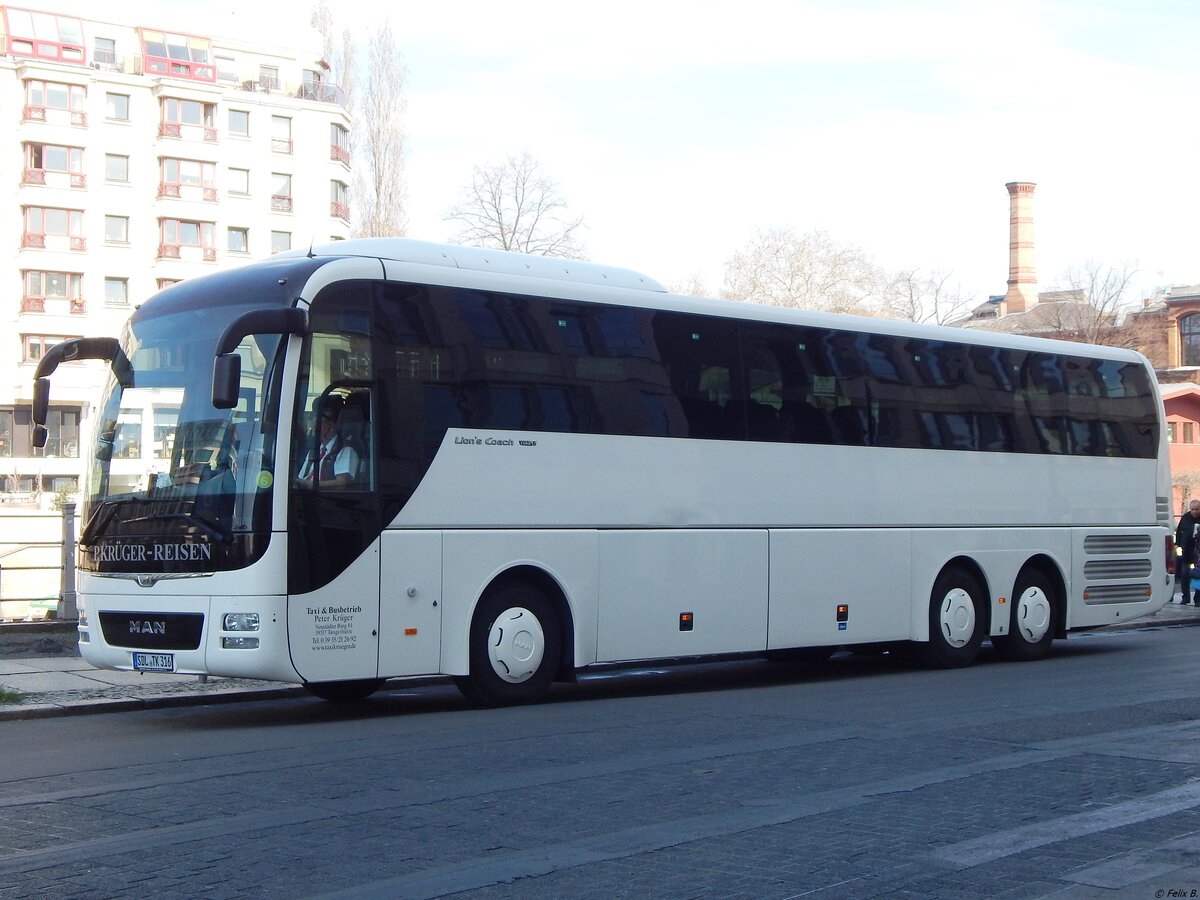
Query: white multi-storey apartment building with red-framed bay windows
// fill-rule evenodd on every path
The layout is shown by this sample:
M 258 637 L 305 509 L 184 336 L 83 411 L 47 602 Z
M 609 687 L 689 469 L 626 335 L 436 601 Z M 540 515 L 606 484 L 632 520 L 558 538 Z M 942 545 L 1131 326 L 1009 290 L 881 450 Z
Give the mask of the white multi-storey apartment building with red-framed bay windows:
M 120 8 L 113 7 L 113 8 Z M 284 49 L 191 23 L 0 6 L 0 503 L 46 505 L 86 464 L 106 376 L 54 378 L 31 445 L 34 370 L 68 337 L 116 335 L 185 278 L 349 236 L 350 118 L 320 38 Z M 152 472 L 174 410 L 121 410 L 116 449 Z

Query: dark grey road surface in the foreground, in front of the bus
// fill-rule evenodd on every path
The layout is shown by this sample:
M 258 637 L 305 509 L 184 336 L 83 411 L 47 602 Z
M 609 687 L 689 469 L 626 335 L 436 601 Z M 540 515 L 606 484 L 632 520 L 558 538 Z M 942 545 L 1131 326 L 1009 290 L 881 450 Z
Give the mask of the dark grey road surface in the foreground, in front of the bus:
M 0 898 L 1200 895 L 1198 641 L 5 722 Z

